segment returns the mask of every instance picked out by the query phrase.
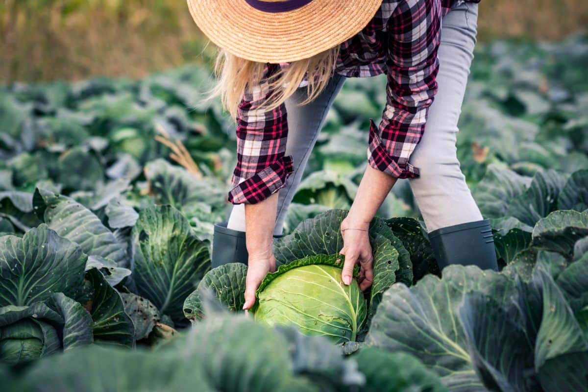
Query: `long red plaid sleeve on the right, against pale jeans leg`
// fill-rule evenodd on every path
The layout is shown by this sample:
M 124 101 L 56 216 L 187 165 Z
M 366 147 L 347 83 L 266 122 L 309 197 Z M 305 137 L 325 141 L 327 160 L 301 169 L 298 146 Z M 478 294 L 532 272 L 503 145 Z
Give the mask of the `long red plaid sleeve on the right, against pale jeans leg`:
M 409 158 L 425 132 L 437 92 L 440 2 L 400 1 L 386 28 L 387 100 L 379 126 L 370 119 L 368 162 L 391 176 L 415 178 L 419 168 Z

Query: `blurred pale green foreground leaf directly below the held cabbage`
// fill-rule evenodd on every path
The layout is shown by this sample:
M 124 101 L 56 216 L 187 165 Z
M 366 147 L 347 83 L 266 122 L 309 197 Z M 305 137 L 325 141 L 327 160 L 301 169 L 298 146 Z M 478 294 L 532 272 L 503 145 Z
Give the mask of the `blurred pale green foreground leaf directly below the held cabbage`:
M 268 328 L 235 314 L 195 324 L 170 348 L 188 361 L 199 358 L 209 385 L 219 391 L 335 392 L 363 381 L 355 363 L 325 338 Z

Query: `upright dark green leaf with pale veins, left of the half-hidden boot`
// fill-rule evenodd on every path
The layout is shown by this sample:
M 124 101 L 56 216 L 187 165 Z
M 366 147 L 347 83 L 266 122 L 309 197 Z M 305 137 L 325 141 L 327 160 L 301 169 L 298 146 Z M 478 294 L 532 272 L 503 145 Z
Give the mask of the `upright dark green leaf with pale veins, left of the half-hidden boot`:
M 184 320 L 183 302 L 210 268 L 206 244 L 171 206 L 143 210 L 131 235 L 138 294 L 172 320 Z

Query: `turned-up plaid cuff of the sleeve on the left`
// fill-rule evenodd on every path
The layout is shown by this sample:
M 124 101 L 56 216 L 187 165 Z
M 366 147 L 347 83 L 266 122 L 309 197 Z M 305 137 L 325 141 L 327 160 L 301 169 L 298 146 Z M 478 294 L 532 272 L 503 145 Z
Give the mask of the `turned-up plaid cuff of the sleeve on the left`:
M 286 179 L 292 172 L 292 155 L 284 156 L 233 187 L 229 191 L 229 202 L 233 204 L 259 203 L 285 186 Z

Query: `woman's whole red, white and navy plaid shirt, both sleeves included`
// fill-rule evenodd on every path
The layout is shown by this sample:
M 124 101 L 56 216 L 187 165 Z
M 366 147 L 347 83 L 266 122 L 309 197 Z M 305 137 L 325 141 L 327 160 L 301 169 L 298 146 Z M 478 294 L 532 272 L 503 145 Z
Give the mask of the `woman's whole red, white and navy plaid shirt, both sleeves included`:
M 390 176 L 419 176 L 419 169 L 408 160 L 425 131 L 428 108 L 437 92 L 441 18 L 457 2 L 463 0 L 383 0 L 369 24 L 341 44 L 336 73 L 348 78 L 387 75 L 382 120 L 376 126 L 370 119 L 368 163 Z M 229 192 L 233 204 L 265 200 L 285 186 L 293 171 L 292 156 L 285 156 L 285 104 L 270 112 L 257 109 L 270 94 L 265 77 L 288 64 L 267 63 L 260 85 L 246 89 L 239 104 L 238 162 Z M 299 87 L 307 84 L 305 76 Z

